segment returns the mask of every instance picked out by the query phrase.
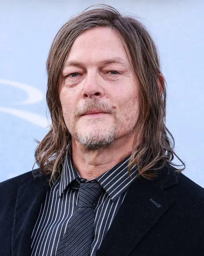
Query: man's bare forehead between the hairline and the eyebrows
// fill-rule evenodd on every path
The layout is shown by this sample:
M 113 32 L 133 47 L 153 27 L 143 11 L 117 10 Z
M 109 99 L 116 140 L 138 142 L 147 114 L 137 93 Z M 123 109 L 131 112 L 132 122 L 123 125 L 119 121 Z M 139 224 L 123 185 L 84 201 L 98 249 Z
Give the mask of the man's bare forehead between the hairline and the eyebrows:
M 103 33 L 105 35 L 107 33 L 107 37 L 105 37 L 105 40 L 103 40 L 104 38 Z M 89 41 L 87 41 L 88 38 L 90 39 Z M 104 44 L 103 44 L 103 41 L 104 41 Z M 68 65 L 82 66 L 83 61 L 81 57 L 83 58 L 83 53 L 86 54 L 86 52 L 83 52 L 83 49 L 88 49 L 88 51 L 92 53 L 95 50 L 98 50 L 98 49 L 100 50 L 100 48 L 102 49 L 102 53 L 107 53 L 107 54 L 106 56 L 104 56 L 104 54 L 99 56 L 100 60 L 99 59 L 97 60 L 97 62 L 99 62 L 98 64 L 102 65 L 102 64 L 109 64 L 111 62 L 112 63 L 121 62 L 121 64 L 123 64 L 124 66 L 131 67 L 132 61 L 130 61 L 130 56 L 128 54 L 125 41 L 121 38 L 119 33 L 115 31 L 115 29 L 112 29 L 109 27 L 92 28 L 80 34 L 78 38 L 75 39 L 71 49 L 69 50 L 69 53 L 66 57 L 66 61 L 64 62 L 63 67 L 67 67 Z M 106 49 L 104 48 L 107 48 L 107 52 L 106 52 Z M 122 52 L 120 49 L 122 50 Z M 80 51 L 82 51 L 82 54 L 80 53 Z M 121 52 L 121 53 L 118 54 L 118 52 Z M 74 55 L 72 55 L 72 53 L 74 53 Z M 84 61 L 86 61 L 87 59 L 86 57 L 84 58 Z M 93 57 L 95 56 L 93 55 Z M 90 59 L 91 59 L 91 56 L 89 60 Z M 95 58 L 93 58 L 93 60 L 95 60 Z

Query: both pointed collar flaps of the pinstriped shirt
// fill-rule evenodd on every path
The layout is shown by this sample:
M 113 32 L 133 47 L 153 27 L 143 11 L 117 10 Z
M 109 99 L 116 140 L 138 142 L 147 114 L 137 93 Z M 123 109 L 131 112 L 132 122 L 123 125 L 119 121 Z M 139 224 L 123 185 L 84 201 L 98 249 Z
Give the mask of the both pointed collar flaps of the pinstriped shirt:
M 132 181 L 135 179 L 137 172 L 136 165 L 132 167 L 131 174 L 128 174 L 130 155 L 120 163 L 117 163 L 108 171 L 104 172 L 99 177 L 96 177 L 94 180 L 97 180 L 101 184 L 103 189 L 108 193 L 112 201 L 115 201 L 123 192 L 125 192 Z M 71 156 L 66 154 L 63 163 L 63 171 L 60 176 L 59 184 L 59 196 L 61 196 L 66 189 L 66 187 L 76 178 L 80 178 L 80 175 L 75 170 Z

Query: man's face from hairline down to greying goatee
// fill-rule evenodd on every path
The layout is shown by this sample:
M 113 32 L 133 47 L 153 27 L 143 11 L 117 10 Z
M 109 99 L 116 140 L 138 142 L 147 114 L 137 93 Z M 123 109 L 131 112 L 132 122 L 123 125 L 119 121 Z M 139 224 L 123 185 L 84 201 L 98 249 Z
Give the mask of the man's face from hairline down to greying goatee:
M 134 132 L 138 86 L 113 29 L 98 27 L 78 36 L 63 67 L 59 96 L 72 140 L 90 150 Z

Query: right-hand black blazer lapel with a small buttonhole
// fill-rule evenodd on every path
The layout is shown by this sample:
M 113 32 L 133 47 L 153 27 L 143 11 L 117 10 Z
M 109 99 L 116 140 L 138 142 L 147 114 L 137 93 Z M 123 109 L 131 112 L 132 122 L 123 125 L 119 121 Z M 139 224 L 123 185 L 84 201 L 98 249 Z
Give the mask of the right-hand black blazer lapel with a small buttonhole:
M 173 204 L 174 198 L 163 189 L 178 183 L 174 170 L 166 166 L 155 180 L 135 179 L 96 256 L 127 256 L 131 253 Z

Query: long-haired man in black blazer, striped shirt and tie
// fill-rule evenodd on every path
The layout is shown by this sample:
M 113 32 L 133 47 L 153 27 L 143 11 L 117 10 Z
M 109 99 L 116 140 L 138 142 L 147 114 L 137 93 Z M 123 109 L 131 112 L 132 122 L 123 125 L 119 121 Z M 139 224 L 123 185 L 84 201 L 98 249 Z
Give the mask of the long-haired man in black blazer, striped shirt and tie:
M 47 72 L 52 127 L 39 169 L 0 183 L 0 255 L 204 255 L 204 189 L 172 166 L 144 26 L 86 9 L 57 33 Z

